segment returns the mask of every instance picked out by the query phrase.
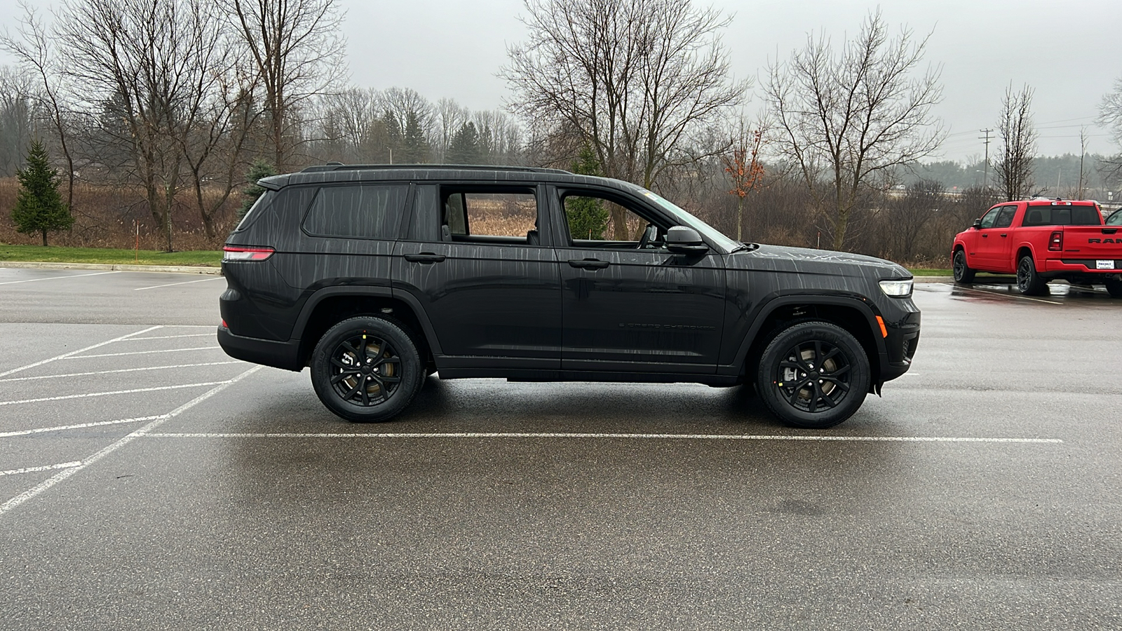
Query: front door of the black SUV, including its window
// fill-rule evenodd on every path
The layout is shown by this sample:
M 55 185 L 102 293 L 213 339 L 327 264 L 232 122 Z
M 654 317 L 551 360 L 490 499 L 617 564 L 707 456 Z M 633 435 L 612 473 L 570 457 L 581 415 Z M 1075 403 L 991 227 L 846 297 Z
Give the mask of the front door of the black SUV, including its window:
M 668 252 L 673 221 L 636 199 L 592 189 L 557 190 L 553 199 L 563 216 L 561 367 L 714 373 L 725 313 L 721 256 Z

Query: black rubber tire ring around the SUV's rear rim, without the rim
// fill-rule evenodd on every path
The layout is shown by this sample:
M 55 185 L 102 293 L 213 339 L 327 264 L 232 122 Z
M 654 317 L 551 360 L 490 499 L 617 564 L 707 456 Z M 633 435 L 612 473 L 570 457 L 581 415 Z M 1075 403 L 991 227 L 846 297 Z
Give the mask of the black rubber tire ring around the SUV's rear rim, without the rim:
M 365 331 L 367 335 L 383 338 L 397 353 L 401 359 L 401 382 L 389 400 L 369 408 L 344 401 L 331 387 L 331 355 L 344 339 Z M 328 329 L 315 344 L 312 351 L 312 387 L 323 404 L 349 421 L 379 422 L 388 421 L 399 414 L 413 401 L 421 390 L 425 377 L 417 345 L 398 322 L 374 316 L 349 318 Z

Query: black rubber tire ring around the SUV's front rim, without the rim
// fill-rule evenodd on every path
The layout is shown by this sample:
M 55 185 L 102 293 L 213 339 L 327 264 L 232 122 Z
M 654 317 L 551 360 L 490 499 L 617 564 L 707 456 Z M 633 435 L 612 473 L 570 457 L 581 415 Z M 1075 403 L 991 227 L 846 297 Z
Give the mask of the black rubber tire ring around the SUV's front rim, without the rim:
M 797 344 L 821 340 L 846 354 L 850 368 L 849 392 L 835 406 L 821 412 L 806 412 L 792 406 L 783 399 L 776 386 L 779 364 L 788 350 Z M 871 383 L 871 368 L 864 347 L 845 329 L 828 322 L 800 322 L 781 330 L 767 344 L 760 358 L 756 375 L 756 392 L 767 408 L 784 422 L 808 429 L 834 427 L 861 408 Z

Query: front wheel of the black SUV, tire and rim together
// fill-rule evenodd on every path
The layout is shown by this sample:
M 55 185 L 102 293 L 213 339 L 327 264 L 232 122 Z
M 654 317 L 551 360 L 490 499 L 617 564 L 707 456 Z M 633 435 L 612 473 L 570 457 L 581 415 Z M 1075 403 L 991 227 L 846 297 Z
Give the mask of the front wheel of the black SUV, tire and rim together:
M 868 356 L 849 331 L 808 321 L 781 330 L 767 344 L 760 358 L 756 392 L 784 422 L 825 429 L 861 408 L 870 379 Z

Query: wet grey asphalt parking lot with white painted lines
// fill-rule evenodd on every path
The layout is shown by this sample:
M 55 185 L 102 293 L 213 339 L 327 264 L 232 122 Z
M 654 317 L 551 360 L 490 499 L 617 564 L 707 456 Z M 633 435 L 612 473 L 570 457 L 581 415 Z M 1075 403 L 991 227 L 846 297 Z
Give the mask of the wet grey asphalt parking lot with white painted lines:
M 917 285 L 827 431 L 743 388 L 227 357 L 217 276 L 0 269 L 0 629 L 1119 629 L 1122 301 Z

